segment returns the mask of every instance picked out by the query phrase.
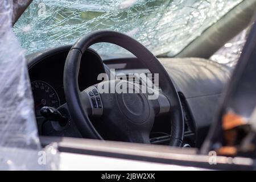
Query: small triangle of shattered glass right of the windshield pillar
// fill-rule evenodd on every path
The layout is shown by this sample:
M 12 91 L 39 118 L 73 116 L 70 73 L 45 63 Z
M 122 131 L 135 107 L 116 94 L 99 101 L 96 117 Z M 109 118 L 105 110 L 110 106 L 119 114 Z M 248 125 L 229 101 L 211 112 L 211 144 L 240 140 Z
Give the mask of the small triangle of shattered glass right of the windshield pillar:
M 246 28 L 232 40 L 227 42 L 223 47 L 218 49 L 218 51 L 210 57 L 210 60 L 216 61 L 220 64 L 225 64 L 229 67 L 234 67 L 237 64 L 243 46 L 246 42 L 248 30 L 249 28 Z

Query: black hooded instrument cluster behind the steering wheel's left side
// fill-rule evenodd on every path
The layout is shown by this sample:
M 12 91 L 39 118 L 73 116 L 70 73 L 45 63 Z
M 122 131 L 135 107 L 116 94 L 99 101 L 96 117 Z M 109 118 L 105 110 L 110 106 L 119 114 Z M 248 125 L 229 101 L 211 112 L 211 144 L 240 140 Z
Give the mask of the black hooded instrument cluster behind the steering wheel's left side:
M 30 61 L 28 70 L 36 118 L 41 117 L 40 109 L 43 106 L 57 108 L 66 102 L 63 88 L 63 71 L 68 50 L 69 47 L 53 52 L 50 55 L 47 53 L 46 57 L 42 57 L 42 59 L 38 57 L 38 59 L 34 59 L 33 63 Z M 40 55 L 42 56 L 42 54 Z M 98 74 L 105 73 L 105 68 L 102 67 L 101 61 L 100 56 L 92 49 L 86 51 L 85 56 L 82 57 L 79 71 L 81 91 L 99 82 L 97 81 Z

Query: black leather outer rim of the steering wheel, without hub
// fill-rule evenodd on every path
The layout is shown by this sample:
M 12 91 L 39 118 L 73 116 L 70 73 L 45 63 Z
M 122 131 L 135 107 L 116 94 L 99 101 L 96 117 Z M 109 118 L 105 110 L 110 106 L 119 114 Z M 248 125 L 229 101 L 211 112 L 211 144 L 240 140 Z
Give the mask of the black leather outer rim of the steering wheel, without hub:
M 115 31 L 94 31 L 82 36 L 70 49 L 64 67 L 64 92 L 73 121 L 82 137 L 103 139 L 84 112 L 79 90 L 80 61 L 87 48 L 95 43 L 112 43 L 133 53 L 151 73 L 159 73 L 159 86 L 171 103 L 171 146 L 181 146 L 184 137 L 184 119 L 181 102 L 174 83 L 158 59 L 137 40 Z

